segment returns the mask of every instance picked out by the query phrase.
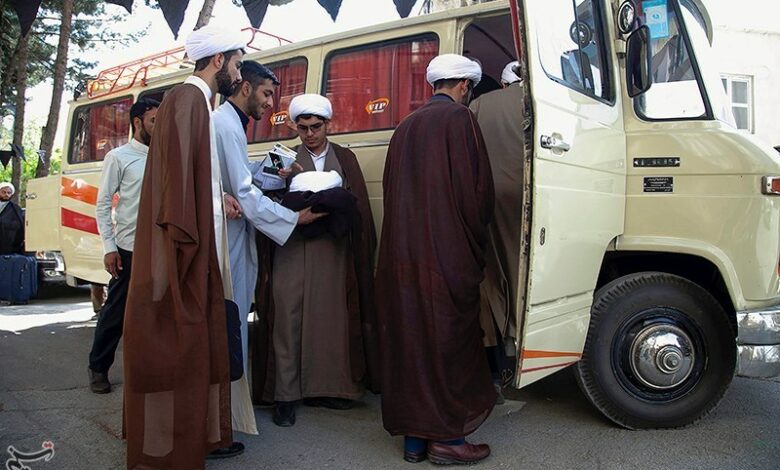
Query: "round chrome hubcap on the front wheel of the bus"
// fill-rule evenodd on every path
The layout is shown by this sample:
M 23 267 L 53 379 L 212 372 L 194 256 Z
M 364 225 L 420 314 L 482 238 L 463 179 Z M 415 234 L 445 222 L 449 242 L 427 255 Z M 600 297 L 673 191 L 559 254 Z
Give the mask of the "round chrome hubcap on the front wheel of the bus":
M 696 356 L 691 338 L 670 324 L 650 325 L 631 343 L 631 370 L 644 385 L 665 390 L 691 375 Z

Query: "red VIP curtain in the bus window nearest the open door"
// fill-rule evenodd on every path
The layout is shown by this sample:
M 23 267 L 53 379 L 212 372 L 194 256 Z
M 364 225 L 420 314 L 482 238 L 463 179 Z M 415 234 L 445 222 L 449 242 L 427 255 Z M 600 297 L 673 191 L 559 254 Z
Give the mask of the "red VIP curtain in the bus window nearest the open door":
M 431 96 L 425 70 L 438 49 L 438 40 L 430 36 L 334 55 L 325 86 L 333 103 L 329 132 L 397 126 Z

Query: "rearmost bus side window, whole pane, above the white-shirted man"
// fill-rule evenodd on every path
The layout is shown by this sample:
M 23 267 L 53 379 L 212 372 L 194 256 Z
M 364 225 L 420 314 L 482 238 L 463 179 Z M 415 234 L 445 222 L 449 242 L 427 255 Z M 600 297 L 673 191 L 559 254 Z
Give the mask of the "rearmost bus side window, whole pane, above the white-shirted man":
M 76 109 L 68 162 L 99 162 L 111 149 L 126 144 L 132 105 L 133 98 L 126 97 Z

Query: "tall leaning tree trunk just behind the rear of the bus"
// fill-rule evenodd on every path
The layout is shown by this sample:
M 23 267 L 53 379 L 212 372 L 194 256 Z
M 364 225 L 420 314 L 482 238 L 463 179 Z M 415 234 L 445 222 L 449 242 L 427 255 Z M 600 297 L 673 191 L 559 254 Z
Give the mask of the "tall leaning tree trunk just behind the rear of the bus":
M 43 133 L 41 134 L 41 145 L 39 148 L 43 151 L 43 155 L 38 160 L 38 167 L 35 169 L 36 178 L 47 176 L 51 166 L 54 136 L 57 134 L 57 124 L 60 120 L 62 93 L 65 91 L 68 45 L 70 44 L 70 33 L 73 29 L 73 2 L 74 0 L 63 0 L 62 2 L 60 42 L 57 45 L 57 58 L 54 61 L 54 91 L 51 95 L 51 106 L 49 106 L 49 117 L 46 120 L 46 127 L 43 128 Z

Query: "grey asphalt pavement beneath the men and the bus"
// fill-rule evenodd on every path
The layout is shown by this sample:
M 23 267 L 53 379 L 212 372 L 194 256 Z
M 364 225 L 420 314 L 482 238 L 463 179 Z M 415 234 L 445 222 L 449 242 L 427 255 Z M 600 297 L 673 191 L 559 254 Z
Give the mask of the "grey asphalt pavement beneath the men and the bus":
M 94 321 L 88 291 L 58 290 L 24 307 L 0 307 L 0 464 L 15 449 L 54 444 L 33 470 L 124 468 L 121 367 L 116 391 L 94 395 L 86 363 Z M 117 359 L 121 364 L 121 357 Z M 780 469 L 780 383 L 735 379 L 720 406 L 682 430 L 626 431 L 584 399 L 569 371 L 516 393 L 473 436 L 493 455 L 480 468 Z M 381 427 L 379 400 L 354 410 L 302 408 L 293 428 L 258 409 L 259 436 L 239 435 L 244 455 L 208 469 L 415 468 Z M 14 468 L 14 467 L 10 467 Z M 416 468 L 430 468 L 417 464 Z

